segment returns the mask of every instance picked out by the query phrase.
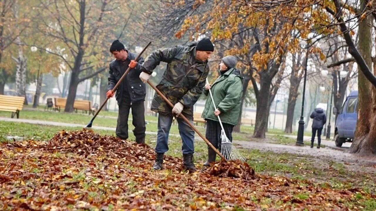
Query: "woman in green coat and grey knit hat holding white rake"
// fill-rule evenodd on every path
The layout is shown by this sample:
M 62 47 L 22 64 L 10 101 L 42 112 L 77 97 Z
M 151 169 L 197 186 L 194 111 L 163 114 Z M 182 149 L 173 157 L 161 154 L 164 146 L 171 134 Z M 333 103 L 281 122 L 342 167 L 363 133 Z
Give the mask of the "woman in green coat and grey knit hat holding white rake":
M 206 139 L 215 148 L 221 150 L 221 125 L 218 115 L 221 118 L 224 132 L 232 142 L 232 128 L 237 125 L 241 109 L 241 96 L 243 94 L 243 77 L 235 68 L 237 59 L 234 56 L 223 57 L 219 67 L 220 76 L 213 84 L 205 84 L 204 93 L 206 96 L 211 89 L 215 106 L 210 96 L 206 99 L 205 109 L 202 118 L 206 120 Z M 208 161 L 204 166 L 209 166 L 215 161 L 216 153 L 208 146 Z

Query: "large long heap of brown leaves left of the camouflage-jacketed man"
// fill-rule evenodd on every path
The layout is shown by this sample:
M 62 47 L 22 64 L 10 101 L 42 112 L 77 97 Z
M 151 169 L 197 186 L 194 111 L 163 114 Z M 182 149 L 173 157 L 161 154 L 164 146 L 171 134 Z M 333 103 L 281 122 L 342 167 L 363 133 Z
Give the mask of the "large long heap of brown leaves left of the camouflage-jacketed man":
M 9 146 L 42 148 L 50 152 L 74 152 L 75 154 L 88 156 L 104 155 L 108 157 L 125 158 L 130 163 L 138 163 L 141 166 L 151 165 L 155 160 L 155 152 L 145 144 L 128 142 L 114 136 L 101 136 L 92 130 L 59 131 L 49 142 L 35 142 L 27 140 L 12 142 Z M 165 156 L 167 169 L 180 169 L 182 161 L 179 158 Z

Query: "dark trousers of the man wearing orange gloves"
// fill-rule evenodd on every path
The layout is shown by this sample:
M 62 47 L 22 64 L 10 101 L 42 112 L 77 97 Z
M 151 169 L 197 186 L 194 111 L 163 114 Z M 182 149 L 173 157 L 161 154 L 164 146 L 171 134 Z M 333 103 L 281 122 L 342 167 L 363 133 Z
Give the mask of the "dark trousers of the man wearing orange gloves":
M 132 108 L 132 124 L 135 126 L 133 134 L 136 139 L 145 138 L 145 107 L 144 101 L 140 100 L 134 103 L 130 103 L 130 98 L 122 97 L 122 102 L 119 103 L 119 114 L 116 125 L 116 136 L 120 139 L 128 139 L 128 116 L 129 109 Z

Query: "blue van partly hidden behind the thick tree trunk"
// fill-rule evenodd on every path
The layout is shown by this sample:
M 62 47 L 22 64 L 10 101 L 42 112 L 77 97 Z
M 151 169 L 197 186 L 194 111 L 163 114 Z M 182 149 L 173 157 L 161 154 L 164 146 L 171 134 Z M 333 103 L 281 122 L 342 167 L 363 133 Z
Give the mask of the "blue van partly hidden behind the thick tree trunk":
M 356 120 L 358 119 L 358 91 L 352 91 L 347 96 L 340 111 L 333 108 L 333 113 L 338 113 L 334 129 L 334 141 L 336 146 L 342 146 L 345 142 L 352 142 L 355 134 Z

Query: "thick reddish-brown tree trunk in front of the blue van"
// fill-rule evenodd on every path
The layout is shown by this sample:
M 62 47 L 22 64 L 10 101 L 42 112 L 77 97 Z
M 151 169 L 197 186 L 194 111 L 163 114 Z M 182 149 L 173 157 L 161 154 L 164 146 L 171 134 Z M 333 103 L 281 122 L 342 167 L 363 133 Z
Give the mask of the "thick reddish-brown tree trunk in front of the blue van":
M 365 8 L 365 1 L 361 3 L 361 10 Z M 371 28 L 370 18 L 367 17 L 359 24 L 359 53 L 368 68 L 372 66 L 371 60 Z M 358 65 L 359 66 L 359 65 Z M 358 67 L 361 68 L 360 66 Z M 355 138 L 349 149 L 351 153 L 371 154 L 376 153 L 376 92 L 365 78 L 362 71 L 358 73 L 358 121 L 356 122 Z M 370 99 L 371 102 L 370 102 Z

